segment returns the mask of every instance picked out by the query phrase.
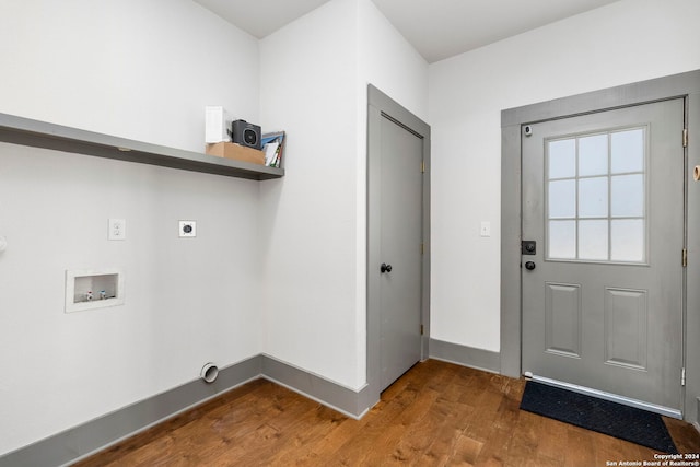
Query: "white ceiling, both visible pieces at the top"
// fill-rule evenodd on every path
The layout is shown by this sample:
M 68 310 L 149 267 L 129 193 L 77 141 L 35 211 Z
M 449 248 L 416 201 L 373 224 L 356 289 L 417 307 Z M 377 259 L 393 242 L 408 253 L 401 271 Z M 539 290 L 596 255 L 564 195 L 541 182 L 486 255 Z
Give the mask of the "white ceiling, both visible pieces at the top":
M 195 0 L 262 38 L 329 0 Z M 372 0 L 430 63 L 618 0 Z

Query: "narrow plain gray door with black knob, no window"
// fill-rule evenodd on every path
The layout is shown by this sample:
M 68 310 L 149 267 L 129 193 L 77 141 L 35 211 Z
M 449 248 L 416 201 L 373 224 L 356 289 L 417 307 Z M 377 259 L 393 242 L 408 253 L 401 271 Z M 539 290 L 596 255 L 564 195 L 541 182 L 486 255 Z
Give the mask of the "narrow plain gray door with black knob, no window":
M 381 390 L 420 360 L 422 139 L 381 122 Z M 374 200 L 371 200 L 371 202 Z

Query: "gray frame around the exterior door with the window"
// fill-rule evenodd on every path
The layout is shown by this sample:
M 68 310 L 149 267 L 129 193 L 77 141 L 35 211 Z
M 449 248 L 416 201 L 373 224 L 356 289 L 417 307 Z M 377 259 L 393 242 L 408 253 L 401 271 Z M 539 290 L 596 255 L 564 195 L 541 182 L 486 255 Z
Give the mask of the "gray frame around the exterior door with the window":
M 700 70 L 607 90 L 510 108 L 501 113 L 501 374 L 522 373 L 521 284 L 521 135 L 522 126 L 556 118 L 682 97 L 686 102 L 687 249 L 686 283 L 700 283 L 700 182 L 692 167 L 700 165 Z M 682 138 L 679 135 L 678 138 Z M 680 252 L 678 254 L 680 260 Z M 684 306 L 684 364 L 686 420 L 700 411 L 700 288 L 686 288 Z M 688 358 L 690 357 L 690 358 Z

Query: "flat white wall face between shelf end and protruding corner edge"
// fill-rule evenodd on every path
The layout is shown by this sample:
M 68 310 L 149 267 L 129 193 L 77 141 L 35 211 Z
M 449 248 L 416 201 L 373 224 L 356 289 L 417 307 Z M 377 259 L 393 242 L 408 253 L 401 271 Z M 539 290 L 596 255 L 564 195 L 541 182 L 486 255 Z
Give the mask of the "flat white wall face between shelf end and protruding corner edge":
M 265 352 L 357 387 L 353 1 L 260 42 L 264 131 L 287 131 L 285 176 L 260 187 Z

